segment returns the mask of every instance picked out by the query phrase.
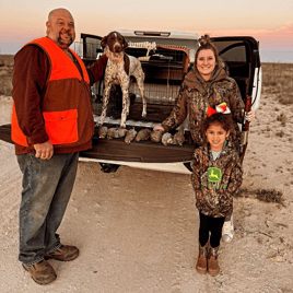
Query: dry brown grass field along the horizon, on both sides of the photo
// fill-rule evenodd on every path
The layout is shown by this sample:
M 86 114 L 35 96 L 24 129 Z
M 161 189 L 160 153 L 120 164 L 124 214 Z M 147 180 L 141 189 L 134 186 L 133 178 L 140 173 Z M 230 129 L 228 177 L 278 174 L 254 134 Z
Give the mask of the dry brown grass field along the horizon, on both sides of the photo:
M 11 95 L 13 55 L 0 55 L 0 95 Z M 276 94 L 281 104 L 293 104 L 293 63 L 261 63 L 262 93 Z

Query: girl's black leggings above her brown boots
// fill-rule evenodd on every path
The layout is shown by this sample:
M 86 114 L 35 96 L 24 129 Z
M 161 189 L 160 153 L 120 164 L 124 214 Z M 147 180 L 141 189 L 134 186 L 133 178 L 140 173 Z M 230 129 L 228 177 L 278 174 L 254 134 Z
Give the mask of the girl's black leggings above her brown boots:
M 199 243 L 204 246 L 210 237 L 211 247 L 218 247 L 222 237 L 225 218 L 212 218 L 199 213 Z

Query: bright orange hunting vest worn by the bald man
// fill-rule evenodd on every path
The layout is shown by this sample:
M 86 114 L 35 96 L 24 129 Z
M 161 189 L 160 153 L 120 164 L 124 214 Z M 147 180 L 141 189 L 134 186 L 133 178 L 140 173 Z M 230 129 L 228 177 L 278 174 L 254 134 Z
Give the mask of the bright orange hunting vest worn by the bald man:
M 82 69 L 82 78 L 77 66 L 51 39 L 43 37 L 30 42 L 25 46 L 32 44 L 39 46 L 47 54 L 51 68 L 46 83 L 46 91 L 40 93 L 42 114 L 50 142 L 52 144 L 68 143 L 70 146 L 89 141 L 93 134 L 93 121 L 89 122 L 89 116 L 86 117 L 83 113 L 85 112 L 89 115 L 90 110 L 90 115 L 92 115 L 89 97 L 90 79 L 84 63 L 74 51 L 69 49 Z M 86 91 L 81 89 L 84 86 L 87 87 Z M 80 95 L 86 96 L 81 97 Z M 81 101 L 82 98 L 83 101 Z M 85 131 L 89 133 L 86 133 L 85 138 L 80 138 L 80 131 L 89 126 L 90 130 Z M 14 102 L 11 127 L 12 140 L 17 144 L 28 146 L 27 137 L 19 127 Z M 80 139 L 82 141 L 79 141 Z

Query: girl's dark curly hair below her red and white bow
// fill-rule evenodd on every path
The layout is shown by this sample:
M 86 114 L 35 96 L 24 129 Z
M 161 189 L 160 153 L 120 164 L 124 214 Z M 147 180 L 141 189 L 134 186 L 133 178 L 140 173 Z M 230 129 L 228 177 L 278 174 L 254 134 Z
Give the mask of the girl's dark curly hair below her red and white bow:
M 231 114 L 215 113 L 208 116 L 201 124 L 201 136 L 204 143 L 208 142 L 206 132 L 211 125 L 220 125 L 225 131 L 230 131 L 230 136 L 233 139 L 236 137 L 235 124 L 232 120 Z

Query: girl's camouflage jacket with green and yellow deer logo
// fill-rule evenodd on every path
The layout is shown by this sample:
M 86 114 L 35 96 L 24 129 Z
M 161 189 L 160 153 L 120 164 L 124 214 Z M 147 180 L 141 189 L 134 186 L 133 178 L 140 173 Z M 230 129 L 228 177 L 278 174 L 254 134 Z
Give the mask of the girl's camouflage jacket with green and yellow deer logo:
M 197 208 L 206 215 L 220 218 L 233 211 L 233 194 L 242 185 L 243 168 L 237 152 L 227 143 L 214 161 L 208 145 L 196 149 L 191 161 L 191 183 Z

